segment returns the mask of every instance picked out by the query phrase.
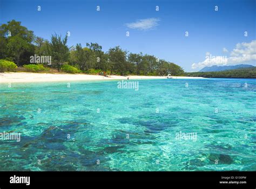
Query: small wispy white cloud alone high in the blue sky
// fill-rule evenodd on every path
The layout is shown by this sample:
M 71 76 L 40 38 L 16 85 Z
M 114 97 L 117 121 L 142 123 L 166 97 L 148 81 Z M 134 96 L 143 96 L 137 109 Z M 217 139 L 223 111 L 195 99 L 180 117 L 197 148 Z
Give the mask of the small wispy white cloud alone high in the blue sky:
M 160 21 L 159 18 L 146 18 L 146 19 L 139 19 L 136 22 L 126 23 L 125 25 L 131 29 L 137 30 L 150 30 L 155 28 Z

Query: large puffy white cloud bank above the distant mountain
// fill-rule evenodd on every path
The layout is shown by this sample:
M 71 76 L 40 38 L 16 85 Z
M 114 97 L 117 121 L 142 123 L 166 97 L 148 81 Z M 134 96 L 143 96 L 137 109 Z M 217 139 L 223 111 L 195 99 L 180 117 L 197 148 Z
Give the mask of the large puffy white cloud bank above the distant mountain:
M 203 62 L 194 63 L 191 67 L 192 69 L 197 69 L 212 65 L 247 63 L 252 60 L 256 60 L 256 40 L 252 40 L 250 43 L 238 43 L 235 45 L 235 49 L 230 52 L 229 57 L 212 56 L 211 54 L 209 55 L 209 52 L 207 52 Z

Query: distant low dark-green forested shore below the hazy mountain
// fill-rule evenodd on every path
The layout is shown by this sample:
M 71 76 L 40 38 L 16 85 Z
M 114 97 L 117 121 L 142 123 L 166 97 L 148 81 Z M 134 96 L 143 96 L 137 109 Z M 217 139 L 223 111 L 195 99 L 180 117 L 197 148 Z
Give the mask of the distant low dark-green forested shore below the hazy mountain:
M 256 78 L 256 67 L 214 72 L 190 72 L 185 75 L 208 78 Z

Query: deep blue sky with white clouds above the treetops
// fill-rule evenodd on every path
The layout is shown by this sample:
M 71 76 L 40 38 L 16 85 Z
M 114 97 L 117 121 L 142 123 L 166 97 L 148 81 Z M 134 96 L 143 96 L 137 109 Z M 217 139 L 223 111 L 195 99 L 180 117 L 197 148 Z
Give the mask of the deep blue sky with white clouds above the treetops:
M 120 45 L 176 63 L 188 72 L 207 65 L 256 65 L 255 0 L 0 2 L 1 24 L 15 19 L 45 39 L 70 31 L 70 46 L 97 42 L 107 51 Z

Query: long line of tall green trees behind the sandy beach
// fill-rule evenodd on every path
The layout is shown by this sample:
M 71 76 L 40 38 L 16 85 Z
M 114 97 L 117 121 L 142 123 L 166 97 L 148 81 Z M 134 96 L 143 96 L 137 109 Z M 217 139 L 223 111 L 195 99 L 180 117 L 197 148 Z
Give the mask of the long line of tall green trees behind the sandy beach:
M 51 65 L 48 66 L 58 71 L 63 65 L 69 64 L 85 73 L 100 70 L 117 75 L 184 75 L 184 70 L 174 63 L 142 52 L 130 53 L 120 46 L 107 52 L 98 43 L 69 47 L 68 35 L 54 33 L 50 40 L 43 39 L 15 20 L 0 26 L 0 59 L 23 66 L 31 64 L 30 56 L 34 55 L 51 56 Z

